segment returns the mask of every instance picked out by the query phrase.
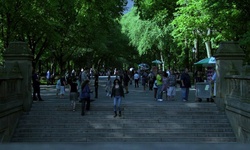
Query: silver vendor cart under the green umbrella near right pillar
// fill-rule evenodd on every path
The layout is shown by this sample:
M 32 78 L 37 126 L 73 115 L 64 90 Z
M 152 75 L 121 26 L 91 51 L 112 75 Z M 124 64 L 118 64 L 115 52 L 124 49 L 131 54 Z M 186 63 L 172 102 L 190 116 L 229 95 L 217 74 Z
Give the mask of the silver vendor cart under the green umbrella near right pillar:
M 196 99 L 211 99 L 213 96 L 211 82 L 197 82 L 195 96 Z

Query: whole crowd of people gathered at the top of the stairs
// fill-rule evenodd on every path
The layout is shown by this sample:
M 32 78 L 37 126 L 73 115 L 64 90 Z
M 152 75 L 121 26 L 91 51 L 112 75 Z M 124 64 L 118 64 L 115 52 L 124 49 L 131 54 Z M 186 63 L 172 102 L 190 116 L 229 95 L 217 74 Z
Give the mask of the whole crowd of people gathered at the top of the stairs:
M 102 73 L 103 74 L 103 73 Z M 65 86 L 69 86 L 69 100 L 72 111 L 76 110 L 76 102 L 82 103 L 81 115 L 85 115 L 85 111 L 90 110 L 91 93 L 94 98 L 98 98 L 99 73 L 93 69 L 81 69 L 79 73 L 72 70 L 71 73 L 61 75 L 56 83 L 56 96 L 64 98 Z M 113 98 L 114 117 L 121 116 L 121 103 L 125 94 L 129 93 L 129 85 L 134 83 L 134 88 L 139 88 L 140 85 L 143 91 L 154 91 L 153 97 L 156 101 L 173 101 L 176 97 L 176 88 L 179 84 L 181 88 L 181 100 L 186 102 L 189 99 L 189 89 L 191 87 L 191 77 L 188 69 L 183 69 L 181 73 L 176 70 L 169 69 L 168 71 L 148 71 L 148 70 L 117 70 L 113 73 L 106 72 L 107 79 L 105 84 L 106 96 Z M 46 74 L 47 82 L 49 82 L 49 71 Z M 115 76 L 112 81 L 111 76 Z M 215 77 L 213 77 L 215 78 Z M 90 82 L 93 82 L 93 88 L 90 87 Z M 215 81 L 215 79 L 213 80 Z M 195 74 L 195 82 L 202 82 L 200 72 Z M 133 87 L 133 86 L 132 86 Z M 131 86 L 130 86 L 131 88 Z M 43 101 L 40 95 L 39 76 L 33 72 L 33 100 Z M 165 95 L 165 97 L 164 97 Z

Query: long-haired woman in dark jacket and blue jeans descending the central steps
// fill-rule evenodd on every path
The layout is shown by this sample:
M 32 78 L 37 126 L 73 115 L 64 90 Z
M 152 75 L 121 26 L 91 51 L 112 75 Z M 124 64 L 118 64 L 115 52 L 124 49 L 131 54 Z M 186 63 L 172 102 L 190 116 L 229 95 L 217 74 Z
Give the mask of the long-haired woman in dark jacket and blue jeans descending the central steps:
M 115 113 L 114 117 L 117 116 L 117 108 L 119 111 L 119 117 L 121 117 L 122 116 L 121 102 L 122 102 L 122 97 L 124 97 L 124 91 L 119 79 L 114 80 L 111 92 L 111 98 L 113 97 L 114 97 L 114 113 Z

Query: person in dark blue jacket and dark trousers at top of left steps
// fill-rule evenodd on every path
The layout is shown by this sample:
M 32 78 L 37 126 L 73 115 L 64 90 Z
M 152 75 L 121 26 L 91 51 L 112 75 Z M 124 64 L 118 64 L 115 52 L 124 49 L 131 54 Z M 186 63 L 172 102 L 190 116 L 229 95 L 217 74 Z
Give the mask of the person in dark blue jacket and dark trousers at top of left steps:
M 89 87 L 89 80 L 85 80 L 81 86 L 81 93 L 80 93 L 80 102 L 82 103 L 82 111 L 81 115 L 85 115 L 85 110 L 90 110 L 90 87 Z

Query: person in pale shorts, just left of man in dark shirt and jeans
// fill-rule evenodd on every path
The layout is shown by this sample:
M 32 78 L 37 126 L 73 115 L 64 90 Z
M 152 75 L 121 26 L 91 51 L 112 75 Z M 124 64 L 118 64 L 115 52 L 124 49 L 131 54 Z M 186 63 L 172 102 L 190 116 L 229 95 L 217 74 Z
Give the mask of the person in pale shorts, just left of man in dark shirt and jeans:
M 174 100 L 175 94 L 176 94 L 176 75 L 174 74 L 174 71 L 172 69 L 169 70 L 169 76 L 167 79 L 168 84 L 168 90 L 167 90 L 167 96 L 168 100 Z

